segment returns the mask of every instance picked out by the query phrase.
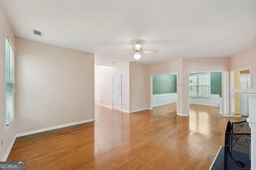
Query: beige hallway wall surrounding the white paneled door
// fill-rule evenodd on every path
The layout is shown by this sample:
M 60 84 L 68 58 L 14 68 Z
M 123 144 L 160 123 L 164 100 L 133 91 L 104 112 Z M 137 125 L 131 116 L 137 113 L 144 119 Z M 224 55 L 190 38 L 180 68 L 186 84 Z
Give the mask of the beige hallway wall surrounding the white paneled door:
M 113 67 L 99 66 L 95 68 L 95 103 L 113 107 L 113 76 L 122 76 L 122 106 L 121 109 L 129 111 L 129 63 Z M 101 102 L 102 101 L 102 102 Z

